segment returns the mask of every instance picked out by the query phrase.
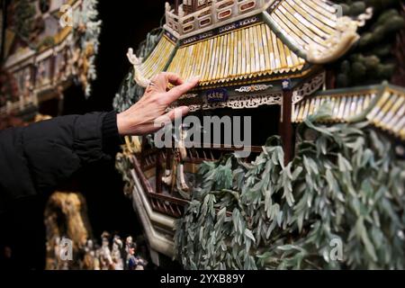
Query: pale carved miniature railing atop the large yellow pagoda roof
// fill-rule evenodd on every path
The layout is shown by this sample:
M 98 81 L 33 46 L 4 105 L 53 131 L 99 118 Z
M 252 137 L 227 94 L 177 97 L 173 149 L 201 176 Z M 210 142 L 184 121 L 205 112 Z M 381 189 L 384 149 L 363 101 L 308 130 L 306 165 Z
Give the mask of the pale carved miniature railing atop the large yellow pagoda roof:
M 216 24 L 253 11 L 260 11 L 272 0 L 217 0 L 211 5 L 184 15 L 183 5 L 179 7 L 178 15 L 175 10 L 166 6 L 166 25 L 179 35 L 186 35 L 193 31 L 213 28 Z

